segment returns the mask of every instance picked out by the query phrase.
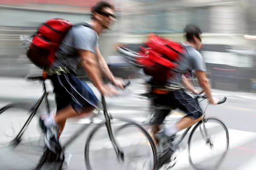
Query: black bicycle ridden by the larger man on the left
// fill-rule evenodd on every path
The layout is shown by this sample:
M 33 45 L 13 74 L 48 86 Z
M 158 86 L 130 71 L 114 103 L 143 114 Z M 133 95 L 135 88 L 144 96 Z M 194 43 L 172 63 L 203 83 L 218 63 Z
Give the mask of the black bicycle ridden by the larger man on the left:
M 48 102 L 48 99 L 47 99 L 47 96 L 49 94 L 49 92 L 47 92 L 46 90 L 46 85 L 45 85 L 45 78 L 43 76 L 39 76 L 39 77 L 26 77 L 26 79 L 29 79 L 29 80 L 32 80 L 32 81 L 35 81 L 35 80 L 38 80 L 38 81 L 41 81 L 43 82 L 43 89 L 44 89 L 44 93 L 43 95 L 40 97 L 40 99 L 38 99 L 38 101 L 32 106 L 31 108 L 31 114 L 29 115 L 29 118 L 27 119 L 26 123 L 23 125 L 23 127 L 21 128 L 20 132 L 17 134 L 17 136 L 15 136 L 15 139 L 12 140 L 11 144 L 14 145 L 14 146 L 17 146 L 20 142 L 21 142 L 21 137 L 24 133 L 24 131 L 26 130 L 26 127 L 29 125 L 29 123 L 31 122 L 32 118 L 35 116 L 36 114 L 36 111 L 38 110 L 39 106 L 41 105 L 41 102 L 45 99 L 45 102 L 46 102 L 46 107 L 47 107 L 47 113 L 49 114 L 50 113 L 50 109 L 49 109 L 49 102 Z M 125 85 L 125 88 L 130 84 L 130 80 L 128 81 L 128 83 L 126 83 Z M 124 160 L 125 160 L 125 153 L 123 152 L 122 148 L 119 146 L 119 144 L 116 142 L 116 139 L 115 137 L 113 136 L 113 131 L 112 131 L 112 126 L 111 126 L 111 121 L 114 119 L 113 116 L 108 113 L 108 110 L 107 110 L 107 104 L 106 104 L 106 101 L 105 101 L 105 97 L 104 96 L 101 96 L 102 98 L 102 106 L 103 106 L 103 115 L 105 117 L 105 121 L 99 123 L 99 124 L 96 124 L 96 127 L 93 128 L 93 130 L 91 131 L 91 133 L 89 134 L 89 137 L 86 141 L 86 144 L 85 144 L 85 149 L 84 149 L 84 159 L 85 159 L 85 165 L 87 167 L 87 170 L 93 170 L 92 168 L 92 165 L 90 164 L 90 157 L 89 157 L 89 148 L 90 148 L 90 144 L 91 144 L 91 139 L 92 137 L 95 135 L 95 133 L 99 130 L 100 127 L 102 127 L 103 125 L 106 125 L 107 127 L 107 130 L 108 130 L 108 137 L 111 141 L 111 144 L 113 146 L 113 150 L 116 154 L 116 158 L 117 158 L 117 161 L 119 163 L 123 163 Z M 2 109 L 2 112 L 3 111 L 6 111 L 8 107 L 4 107 Z M 99 114 L 100 111 L 96 114 L 94 114 L 91 118 L 90 118 L 90 123 L 87 125 L 83 125 L 76 133 L 74 133 L 73 136 L 70 137 L 70 139 L 65 142 L 62 147 L 61 147 L 61 150 L 59 153 L 56 153 L 55 154 L 55 161 L 58 159 L 60 161 L 60 166 L 57 168 L 59 170 L 62 169 L 63 167 L 63 163 L 64 163 L 64 151 L 65 149 L 67 148 L 67 146 L 69 146 L 73 141 L 74 139 L 76 139 L 78 136 L 81 135 L 81 133 L 84 132 L 84 130 L 86 130 L 90 125 L 93 125 L 93 119 L 96 118 L 96 117 L 99 117 Z M 129 119 L 124 119 L 124 118 L 118 118 L 119 120 L 121 120 L 122 122 L 126 122 L 126 123 L 129 123 L 129 125 L 133 125 L 134 127 L 137 127 L 137 129 L 139 129 L 143 135 L 145 136 L 146 140 L 148 141 L 148 143 L 150 144 L 150 147 L 151 147 L 151 151 L 152 151 L 152 154 L 153 154 L 153 159 L 152 159 L 152 162 L 153 162 L 153 165 L 152 165 L 152 170 L 155 169 L 156 167 L 156 164 L 157 164 L 157 156 L 156 156 L 156 147 L 154 145 L 154 141 L 153 139 L 151 138 L 151 136 L 148 134 L 148 132 L 143 128 L 141 127 L 138 123 L 134 122 L 134 121 L 131 121 Z M 116 118 L 115 118 L 116 120 Z M 120 128 L 119 128 L 120 129 Z M 115 134 L 115 133 L 114 133 Z M 41 156 L 41 158 L 39 159 L 38 161 L 38 165 L 37 167 L 35 168 L 35 170 L 40 170 L 41 167 L 47 163 L 47 162 L 50 162 L 51 160 L 49 159 L 52 159 L 49 158 L 50 156 L 52 156 L 52 152 L 46 147 L 44 146 L 44 152 Z

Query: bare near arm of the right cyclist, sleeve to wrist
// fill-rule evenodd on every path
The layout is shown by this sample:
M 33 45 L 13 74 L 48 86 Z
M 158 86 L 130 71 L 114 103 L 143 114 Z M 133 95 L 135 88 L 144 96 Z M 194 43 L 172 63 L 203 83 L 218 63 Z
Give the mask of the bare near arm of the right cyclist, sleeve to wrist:
M 203 88 L 204 92 L 206 93 L 209 102 L 212 103 L 214 102 L 214 100 L 212 99 L 212 93 L 211 93 L 211 88 L 209 85 L 209 82 L 207 80 L 207 77 L 205 75 L 204 71 L 195 71 L 195 75 L 198 79 L 199 85 L 201 86 L 201 88 Z

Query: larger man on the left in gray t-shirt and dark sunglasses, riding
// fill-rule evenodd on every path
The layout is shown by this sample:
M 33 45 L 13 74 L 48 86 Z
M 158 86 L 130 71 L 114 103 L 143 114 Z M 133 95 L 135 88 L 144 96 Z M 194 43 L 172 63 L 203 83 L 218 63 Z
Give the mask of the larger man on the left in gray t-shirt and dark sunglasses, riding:
M 98 99 L 92 89 L 76 77 L 77 66 L 81 64 L 93 85 L 105 96 L 118 92 L 111 85 L 104 85 L 102 74 L 119 88 L 124 87 L 122 79 L 114 77 L 102 57 L 98 47 L 98 35 L 111 27 L 116 20 L 114 7 L 106 1 L 100 1 L 93 7 L 92 20 L 87 26 L 73 26 L 64 37 L 56 60 L 47 69 L 52 81 L 57 104 L 56 115 L 40 118 L 47 147 L 57 152 L 60 137 L 67 118 L 90 114 L 98 107 Z

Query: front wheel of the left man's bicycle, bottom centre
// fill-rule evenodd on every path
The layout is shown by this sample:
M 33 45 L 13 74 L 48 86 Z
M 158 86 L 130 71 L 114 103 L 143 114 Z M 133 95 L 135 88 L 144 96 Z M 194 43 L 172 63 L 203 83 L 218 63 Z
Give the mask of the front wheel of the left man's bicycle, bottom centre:
M 97 125 L 87 139 L 84 151 L 87 170 L 155 170 L 156 147 L 143 127 L 127 119 L 111 120 L 113 136 L 124 153 L 121 163 L 104 125 L 105 122 Z

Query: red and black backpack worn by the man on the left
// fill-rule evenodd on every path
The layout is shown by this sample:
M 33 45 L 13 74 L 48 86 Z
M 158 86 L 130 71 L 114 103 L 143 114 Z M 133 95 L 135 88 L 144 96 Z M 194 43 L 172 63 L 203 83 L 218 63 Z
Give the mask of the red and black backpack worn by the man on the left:
M 90 27 L 87 23 L 81 25 Z M 56 58 L 55 52 L 73 26 L 69 21 L 60 18 L 53 18 L 42 23 L 26 51 L 27 57 L 41 69 L 52 65 Z

